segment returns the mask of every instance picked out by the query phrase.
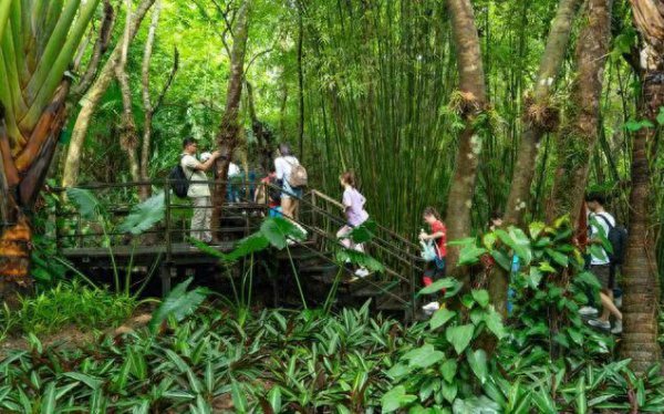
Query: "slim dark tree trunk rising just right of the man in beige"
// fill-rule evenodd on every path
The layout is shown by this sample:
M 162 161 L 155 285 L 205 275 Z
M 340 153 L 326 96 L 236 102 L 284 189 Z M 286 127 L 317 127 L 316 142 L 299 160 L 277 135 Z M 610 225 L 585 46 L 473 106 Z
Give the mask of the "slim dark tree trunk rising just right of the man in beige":
M 226 110 L 221 117 L 217 146 L 224 158 L 215 165 L 215 178 L 226 182 L 228 165 L 239 142 L 239 111 L 242 95 L 242 81 L 245 77 L 245 55 L 247 52 L 247 38 L 249 35 L 249 13 L 251 0 L 243 0 L 237 13 L 237 30 L 234 33 L 232 51 L 230 54 L 230 79 L 226 92 Z M 226 197 L 226 186 L 216 185 L 212 192 L 212 227 L 217 228 L 221 218 L 221 206 Z

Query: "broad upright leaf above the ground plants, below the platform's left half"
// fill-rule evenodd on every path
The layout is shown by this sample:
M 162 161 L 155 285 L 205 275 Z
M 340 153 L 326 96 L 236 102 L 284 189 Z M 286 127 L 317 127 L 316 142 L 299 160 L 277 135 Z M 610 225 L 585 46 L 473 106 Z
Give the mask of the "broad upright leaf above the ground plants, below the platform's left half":
M 173 315 L 175 320 L 181 321 L 194 313 L 210 293 L 206 288 L 196 288 L 187 291 L 191 280 L 194 280 L 194 278 L 189 278 L 176 286 L 154 312 L 148 327 L 153 333 L 156 333 L 162 323 L 170 315 Z

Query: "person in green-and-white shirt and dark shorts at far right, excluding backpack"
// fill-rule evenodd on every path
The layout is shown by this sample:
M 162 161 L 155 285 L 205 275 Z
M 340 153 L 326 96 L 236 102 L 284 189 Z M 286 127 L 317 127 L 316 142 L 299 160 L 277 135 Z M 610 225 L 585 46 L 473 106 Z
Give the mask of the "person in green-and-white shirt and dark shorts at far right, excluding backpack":
M 585 196 L 590 222 L 590 242 L 602 244 L 602 238 L 609 237 L 611 228 L 615 227 L 615 218 L 604 209 L 605 198 L 601 194 L 591 193 Z M 611 322 L 609 318 L 615 317 L 613 333 L 622 332 L 622 313 L 613 302 L 613 288 L 615 287 L 615 268 L 609 259 L 609 253 L 602 248 L 602 256 L 592 256 L 590 271 L 602 284 L 600 298 L 602 299 L 602 314 L 598 319 L 591 319 L 588 323 L 592 327 L 609 330 Z

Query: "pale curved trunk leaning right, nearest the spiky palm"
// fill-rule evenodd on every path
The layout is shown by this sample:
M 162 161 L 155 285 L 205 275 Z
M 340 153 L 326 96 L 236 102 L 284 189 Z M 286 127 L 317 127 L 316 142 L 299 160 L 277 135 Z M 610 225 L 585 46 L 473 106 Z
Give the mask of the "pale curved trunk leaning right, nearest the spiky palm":
M 129 31 L 129 38 L 133 40 L 138 33 L 141 23 L 147 14 L 147 11 L 153 6 L 155 0 L 143 0 L 133 13 L 132 27 Z M 62 173 L 62 186 L 72 187 L 79 182 L 79 174 L 81 170 L 81 156 L 83 153 L 83 144 L 87 136 L 87 130 L 90 128 L 90 122 L 94 115 L 100 102 L 104 97 L 108 85 L 113 81 L 115 75 L 115 66 L 122 56 L 122 42 L 118 43 L 108 60 L 100 71 L 98 76 L 90 87 L 87 94 L 81 100 L 81 111 L 76 116 L 74 128 L 72 130 L 72 136 L 66 153 L 66 159 L 64 163 L 64 170 Z

